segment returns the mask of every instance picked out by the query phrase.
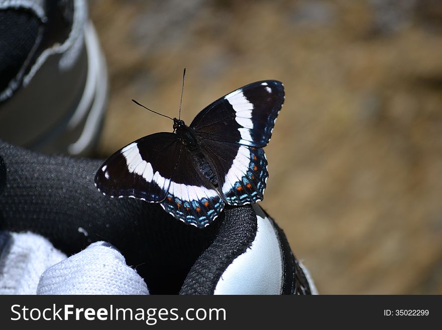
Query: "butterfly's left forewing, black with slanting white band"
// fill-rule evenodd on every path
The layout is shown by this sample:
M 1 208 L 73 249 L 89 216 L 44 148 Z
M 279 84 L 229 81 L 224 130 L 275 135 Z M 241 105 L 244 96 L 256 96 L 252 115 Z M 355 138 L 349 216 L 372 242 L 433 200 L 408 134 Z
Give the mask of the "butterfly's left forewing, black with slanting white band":
M 145 136 L 109 157 L 95 175 L 95 186 L 111 197 L 161 202 L 166 198 L 181 150 L 176 134 Z

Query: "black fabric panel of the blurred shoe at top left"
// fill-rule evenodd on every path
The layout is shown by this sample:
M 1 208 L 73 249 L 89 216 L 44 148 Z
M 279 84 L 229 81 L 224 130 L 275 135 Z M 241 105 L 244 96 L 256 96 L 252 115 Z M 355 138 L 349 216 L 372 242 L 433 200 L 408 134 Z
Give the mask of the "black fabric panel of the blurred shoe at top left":
M 40 20 L 30 11 L 0 10 L 0 92 L 23 66 L 40 26 Z

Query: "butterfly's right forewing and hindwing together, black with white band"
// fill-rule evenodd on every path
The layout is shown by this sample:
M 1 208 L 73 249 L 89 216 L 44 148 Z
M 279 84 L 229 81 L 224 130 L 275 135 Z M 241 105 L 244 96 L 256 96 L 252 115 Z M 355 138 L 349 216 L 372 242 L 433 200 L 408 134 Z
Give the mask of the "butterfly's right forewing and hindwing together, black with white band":
M 262 147 L 270 140 L 283 102 L 281 82 L 258 81 L 214 101 L 190 124 L 226 203 L 243 205 L 264 198 L 269 173 Z

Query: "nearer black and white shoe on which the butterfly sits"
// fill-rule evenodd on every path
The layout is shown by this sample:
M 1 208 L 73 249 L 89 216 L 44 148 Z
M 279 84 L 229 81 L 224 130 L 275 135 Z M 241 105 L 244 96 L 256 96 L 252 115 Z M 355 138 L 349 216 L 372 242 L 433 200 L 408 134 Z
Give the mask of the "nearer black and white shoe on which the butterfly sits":
M 37 287 L 47 294 L 99 294 L 103 287 L 115 294 L 317 293 L 283 231 L 257 204 L 227 208 L 198 229 L 159 204 L 103 196 L 93 184 L 101 160 L 43 155 L 2 141 L 0 157 L 0 231 L 10 242 L 0 244 L 0 293 L 35 294 Z M 115 277 L 110 270 L 96 276 L 97 254 L 86 248 L 103 240 L 100 246 L 114 250 L 94 251 L 106 265 L 115 262 L 109 266 L 119 270 Z M 45 267 L 37 271 L 36 263 Z M 124 291 L 129 278 L 138 284 Z

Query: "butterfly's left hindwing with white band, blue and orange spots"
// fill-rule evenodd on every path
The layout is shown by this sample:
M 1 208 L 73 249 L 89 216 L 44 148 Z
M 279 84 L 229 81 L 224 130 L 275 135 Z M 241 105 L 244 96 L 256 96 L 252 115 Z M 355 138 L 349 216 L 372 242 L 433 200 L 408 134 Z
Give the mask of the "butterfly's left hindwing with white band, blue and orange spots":
M 189 225 L 205 227 L 224 208 L 215 187 L 196 169 L 192 155 L 181 152 L 163 208 Z

